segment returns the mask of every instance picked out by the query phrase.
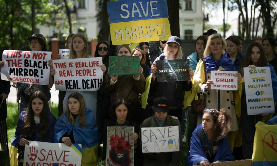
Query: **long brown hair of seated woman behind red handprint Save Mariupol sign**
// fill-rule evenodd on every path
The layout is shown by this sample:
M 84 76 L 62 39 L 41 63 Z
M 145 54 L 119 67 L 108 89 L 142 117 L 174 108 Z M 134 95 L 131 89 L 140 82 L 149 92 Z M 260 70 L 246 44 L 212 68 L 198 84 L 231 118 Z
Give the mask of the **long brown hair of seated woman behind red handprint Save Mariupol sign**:
M 34 111 L 32 108 L 32 102 L 34 99 L 39 98 L 43 101 L 43 109 L 40 113 L 40 123 L 38 125 L 35 124 L 34 120 Z M 50 111 L 47 99 L 42 91 L 35 91 L 30 98 L 27 114 L 23 117 L 24 125 L 23 125 L 23 138 L 29 136 L 32 132 L 40 132 L 41 137 L 45 137 L 48 134 L 47 126 L 48 126 L 48 111 Z

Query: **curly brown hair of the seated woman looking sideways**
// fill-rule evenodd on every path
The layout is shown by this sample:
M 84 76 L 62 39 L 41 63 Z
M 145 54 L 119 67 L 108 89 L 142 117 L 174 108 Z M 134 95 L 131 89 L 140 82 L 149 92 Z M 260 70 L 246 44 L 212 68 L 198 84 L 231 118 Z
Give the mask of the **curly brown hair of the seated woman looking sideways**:
M 214 112 L 210 113 L 210 110 Z M 203 113 L 209 113 L 214 121 L 214 126 L 212 128 L 213 140 L 219 141 L 227 136 L 231 129 L 233 117 L 225 108 L 221 108 L 220 111 L 216 109 L 205 109 Z

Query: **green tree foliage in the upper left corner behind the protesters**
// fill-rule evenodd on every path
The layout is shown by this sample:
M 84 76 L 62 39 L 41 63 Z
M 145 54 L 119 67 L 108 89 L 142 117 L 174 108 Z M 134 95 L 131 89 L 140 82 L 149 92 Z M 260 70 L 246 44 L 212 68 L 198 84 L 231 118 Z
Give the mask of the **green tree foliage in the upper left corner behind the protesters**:
M 55 0 L 56 1 L 56 0 Z M 55 2 L 54 1 L 54 2 Z M 35 5 L 32 20 L 31 4 Z M 0 0 L 0 48 L 19 49 L 28 45 L 26 37 L 32 35 L 32 22 L 35 26 L 54 25 L 55 15 L 62 12 L 64 4 L 55 5 L 48 0 Z M 37 32 L 34 30 L 34 32 Z

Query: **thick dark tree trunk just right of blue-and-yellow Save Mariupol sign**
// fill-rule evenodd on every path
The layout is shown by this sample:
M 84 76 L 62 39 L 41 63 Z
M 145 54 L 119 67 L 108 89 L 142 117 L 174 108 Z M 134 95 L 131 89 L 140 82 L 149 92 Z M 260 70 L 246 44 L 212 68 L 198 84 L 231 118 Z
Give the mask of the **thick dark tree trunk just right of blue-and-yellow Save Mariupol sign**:
M 179 1 L 167 0 L 167 8 L 171 35 L 180 37 Z

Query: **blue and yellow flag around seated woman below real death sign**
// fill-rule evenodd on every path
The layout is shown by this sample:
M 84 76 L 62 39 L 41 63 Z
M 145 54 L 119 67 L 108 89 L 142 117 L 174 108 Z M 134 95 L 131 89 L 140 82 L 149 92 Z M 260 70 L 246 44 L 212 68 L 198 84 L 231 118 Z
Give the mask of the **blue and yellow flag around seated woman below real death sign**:
M 73 132 L 76 144 L 82 144 L 82 166 L 97 164 L 98 150 L 98 128 L 90 109 L 86 109 L 85 124 L 81 128 L 79 119 L 76 117 L 73 125 L 66 119 L 66 115 L 59 117 L 54 129 L 54 142 L 59 142 L 61 137 L 67 133 Z M 73 148 L 73 147 L 72 147 Z

